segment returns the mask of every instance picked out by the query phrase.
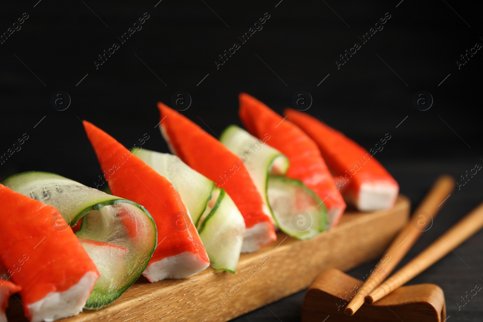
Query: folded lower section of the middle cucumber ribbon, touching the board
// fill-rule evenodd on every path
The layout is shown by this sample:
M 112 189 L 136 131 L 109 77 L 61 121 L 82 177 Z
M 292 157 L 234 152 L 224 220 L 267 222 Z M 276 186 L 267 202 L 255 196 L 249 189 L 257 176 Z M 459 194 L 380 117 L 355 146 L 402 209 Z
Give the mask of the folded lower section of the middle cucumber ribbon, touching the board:
M 245 221 L 225 190 L 214 188 L 212 198 L 197 225 L 211 266 L 235 274 L 240 258 Z

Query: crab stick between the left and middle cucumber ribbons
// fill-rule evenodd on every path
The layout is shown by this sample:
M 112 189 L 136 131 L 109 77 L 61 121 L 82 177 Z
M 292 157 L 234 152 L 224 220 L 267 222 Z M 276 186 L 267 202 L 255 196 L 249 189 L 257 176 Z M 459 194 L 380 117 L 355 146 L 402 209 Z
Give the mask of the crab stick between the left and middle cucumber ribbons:
M 208 267 L 198 231 L 172 184 L 109 134 L 83 123 L 111 192 L 143 205 L 156 223 L 158 245 L 142 274 L 156 282 L 187 278 Z

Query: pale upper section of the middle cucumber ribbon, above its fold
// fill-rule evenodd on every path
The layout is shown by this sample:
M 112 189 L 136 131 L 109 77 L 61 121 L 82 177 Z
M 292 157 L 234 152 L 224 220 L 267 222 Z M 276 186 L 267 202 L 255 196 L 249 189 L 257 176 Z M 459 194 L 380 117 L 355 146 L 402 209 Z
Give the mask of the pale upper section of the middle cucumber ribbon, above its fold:
M 178 191 L 194 223 L 205 211 L 211 198 L 214 182 L 190 168 L 179 157 L 146 149 L 131 149 L 148 166 L 168 179 Z

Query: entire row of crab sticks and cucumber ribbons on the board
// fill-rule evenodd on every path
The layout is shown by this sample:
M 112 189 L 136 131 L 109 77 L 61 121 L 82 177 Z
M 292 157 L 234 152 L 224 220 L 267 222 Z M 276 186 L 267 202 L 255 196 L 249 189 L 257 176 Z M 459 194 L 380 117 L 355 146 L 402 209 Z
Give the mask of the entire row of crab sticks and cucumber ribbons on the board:
M 158 103 L 172 154 L 128 150 L 83 121 L 110 194 L 40 171 L 4 180 L 0 322 L 17 292 L 30 321 L 54 321 L 108 306 L 141 275 L 189 279 L 208 266 L 235 274 L 241 253 L 272 243 L 277 230 L 308 240 L 335 229 L 346 202 L 394 206 L 398 183 L 355 141 L 304 112 L 239 99 L 245 129 L 219 137 Z

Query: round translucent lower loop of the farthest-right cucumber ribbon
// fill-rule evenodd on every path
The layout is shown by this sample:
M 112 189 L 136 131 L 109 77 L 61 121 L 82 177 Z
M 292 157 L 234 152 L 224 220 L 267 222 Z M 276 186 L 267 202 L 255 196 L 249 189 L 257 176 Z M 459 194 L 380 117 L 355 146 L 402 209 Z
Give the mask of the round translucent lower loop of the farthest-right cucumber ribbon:
M 309 239 L 327 228 L 326 207 L 303 182 L 270 176 L 268 186 L 275 222 L 285 234 Z

